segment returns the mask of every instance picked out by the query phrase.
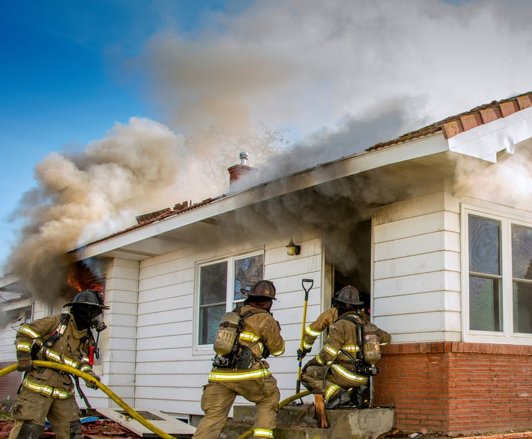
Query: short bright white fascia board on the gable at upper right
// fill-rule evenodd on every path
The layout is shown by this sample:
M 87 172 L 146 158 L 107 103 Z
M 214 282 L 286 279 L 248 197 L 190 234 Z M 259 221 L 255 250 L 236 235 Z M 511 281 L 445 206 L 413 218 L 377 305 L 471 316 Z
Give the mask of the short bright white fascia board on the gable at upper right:
M 501 150 L 513 154 L 515 144 L 532 137 L 532 107 L 451 137 L 449 150 L 497 162 Z

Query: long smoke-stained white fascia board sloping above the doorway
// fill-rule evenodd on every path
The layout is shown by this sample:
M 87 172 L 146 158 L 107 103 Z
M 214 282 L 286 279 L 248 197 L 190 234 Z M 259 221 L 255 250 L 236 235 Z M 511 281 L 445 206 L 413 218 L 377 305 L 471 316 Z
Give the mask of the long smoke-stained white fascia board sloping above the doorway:
M 441 133 L 437 133 L 436 135 L 415 139 L 408 143 L 350 155 L 349 157 L 344 157 L 334 162 L 321 164 L 314 168 L 305 169 L 304 171 L 299 171 L 283 178 L 277 178 L 255 187 L 223 196 L 197 209 L 192 209 L 175 216 L 169 216 L 161 221 L 156 221 L 144 227 L 120 234 L 119 236 L 78 248 L 77 255 L 79 259 L 95 257 L 129 246 L 132 243 L 149 239 L 158 234 L 170 232 L 171 230 L 198 223 L 207 218 L 232 212 L 277 196 L 282 196 L 286 193 L 306 189 L 307 187 L 316 186 L 317 184 L 323 184 L 371 169 L 377 169 L 388 164 L 413 160 L 427 155 L 443 153 L 448 150 L 449 146 L 447 141 Z

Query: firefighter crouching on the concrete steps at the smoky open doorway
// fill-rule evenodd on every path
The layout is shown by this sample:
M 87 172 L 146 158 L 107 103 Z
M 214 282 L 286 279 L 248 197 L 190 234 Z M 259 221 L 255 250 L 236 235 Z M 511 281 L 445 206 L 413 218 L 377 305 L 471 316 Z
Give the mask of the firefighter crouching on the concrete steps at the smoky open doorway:
M 323 396 L 325 408 L 343 404 L 365 406 L 369 401 L 369 377 L 378 373 L 375 364 L 380 358 L 379 345 L 390 343 L 390 334 L 370 324 L 367 315 L 363 313 L 362 305 L 359 291 L 353 286 L 345 286 L 334 300 L 335 308 L 325 311 L 305 330 L 305 351 L 298 352 L 298 355 L 303 356 L 310 350 L 316 337 L 327 327 L 327 319 L 334 319 L 322 350 L 304 365 L 301 376 L 303 386 L 314 395 Z M 363 340 L 366 339 L 363 328 L 372 329 L 376 343 L 373 347 L 377 351 L 374 354 L 377 354 L 377 357 L 366 352 L 366 347 L 369 350 L 370 344 L 363 347 Z M 364 356 L 366 353 L 369 363 Z

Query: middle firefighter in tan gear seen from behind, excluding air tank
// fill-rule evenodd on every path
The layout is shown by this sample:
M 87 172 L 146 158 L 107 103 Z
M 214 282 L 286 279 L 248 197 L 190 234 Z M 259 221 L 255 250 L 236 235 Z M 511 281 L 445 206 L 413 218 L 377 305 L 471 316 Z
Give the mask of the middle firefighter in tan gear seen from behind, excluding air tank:
M 269 354 L 284 353 L 279 322 L 270 313 L 272 302 L 276 300 L 275 286 L 268 280 L 261 280 L 250 291 L 241 291 L 248 296 L 243 306 L 234 311 L 240 314 L 243 325 L 234 352 L 214 357 L 209 383 L 204 386 L 201 397 L 205 416 L 192 436 L 194 439 L 220 436 L 237 395 L 255 403 L 253 438 L 273 438 L 280 392 L 264 359 Z

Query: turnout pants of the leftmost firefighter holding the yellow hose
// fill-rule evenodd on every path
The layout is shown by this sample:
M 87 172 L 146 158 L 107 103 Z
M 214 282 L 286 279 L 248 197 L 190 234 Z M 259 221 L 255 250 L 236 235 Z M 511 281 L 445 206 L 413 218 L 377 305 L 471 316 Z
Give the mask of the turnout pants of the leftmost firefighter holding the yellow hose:
M 46 418 L 58 439 L 82 438 L 80 413 L 74 396 L 57 399 L 22 387 L 13 404 L 11 418 L 15 424 L 9 439 L 33 438 L 38 430 L 42 433 Z

